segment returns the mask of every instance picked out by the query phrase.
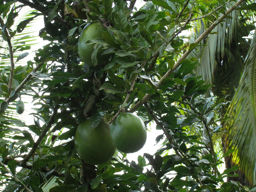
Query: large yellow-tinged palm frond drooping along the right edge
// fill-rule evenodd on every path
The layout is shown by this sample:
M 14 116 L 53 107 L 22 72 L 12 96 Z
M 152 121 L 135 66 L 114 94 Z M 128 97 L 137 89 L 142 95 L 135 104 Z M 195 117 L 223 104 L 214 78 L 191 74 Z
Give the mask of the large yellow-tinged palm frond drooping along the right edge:
M 227 147 L 235 148 L 232 162 L 240 166 L 247 180 L 256 183 L 256 33 L 245 59 L 240 84 L 228 108 L 232 119 L 225 124 Z

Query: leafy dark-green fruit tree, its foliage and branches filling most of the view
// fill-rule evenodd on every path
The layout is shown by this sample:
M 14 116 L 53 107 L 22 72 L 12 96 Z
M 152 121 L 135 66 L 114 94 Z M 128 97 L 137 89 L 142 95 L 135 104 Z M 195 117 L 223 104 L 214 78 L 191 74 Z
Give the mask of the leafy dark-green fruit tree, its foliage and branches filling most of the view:
M 204 96 L 212 85 L 193 74 L 199 60 L 190 53 L 207 46 L 205 38 L 216 35 L 212 30 L 232 19 L 231 12 L 253 9 L 255 4 L 153 0 L 138 10 L 135 2 L 1 2 L 1 38 L 8 44 L 1 46 L 1 57 L 8 59 L 1 69 L 0 107 L 0 170 L 5 189 L 15 182 L 17 191 L 46 191 L 51 180 L 55 185 L 50 192 L 249 191 L 238 182 L 223 180 L 237 176 L 229 173 L 238 168 L 219 170 L 222 158 L 234 150 L 215 151 L 212 139 L 227 119 L 218 114 L 226 103 L 224 98 Z M 33 9 L 31 16 L 13 28 L 27 6 Z M 44 26 L 39 37 L 49 43 L 36 50 L 33 60 L 17 66 L 29 47 L 22 38 L 17 43 L 12 39 L 41 15 Z M 195 41 L 184 43 L 183 32 L 196 30 L 195 21 L 205 28 Z M 82 42 L 93 49 L 81 53 L 79 36 L 86 24 L 94 22 L 102 23 L 102 36 Z M 98 33 L 89 27 L 88 36 Z M 30 113 L 34 124 L 11 117 L 15 100 L 22 95 L 40 105 Z M 73 140 L 78 125 L 87 117 L 92 128 L 101 117 L 111 124 L 126 112 L 136 113 L 146 125 L 154 121 L 162 134 L 152 142 L 162 142 L 162 147 L 155 154 L 138 156 L 137 161 L 128 161 L 119 151 L 104 164 L 82 161 Z M 191 135 L 192 127 L 200 134 Z M 16 173 L 17 167 L 21 173 L 28 171 L 25 177 Z

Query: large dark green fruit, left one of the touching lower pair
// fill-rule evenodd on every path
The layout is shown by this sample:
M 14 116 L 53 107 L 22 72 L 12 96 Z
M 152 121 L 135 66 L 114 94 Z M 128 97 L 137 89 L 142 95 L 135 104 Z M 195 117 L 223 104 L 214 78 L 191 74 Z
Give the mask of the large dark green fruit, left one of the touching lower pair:
M 103 164 L 116 151 L 110 136 L 110 124 L 101 118 L 100 124 L 92 129 L 91 121 L 91 117 L 87 118 L 76 129 L 76 152 L 88 164 Z

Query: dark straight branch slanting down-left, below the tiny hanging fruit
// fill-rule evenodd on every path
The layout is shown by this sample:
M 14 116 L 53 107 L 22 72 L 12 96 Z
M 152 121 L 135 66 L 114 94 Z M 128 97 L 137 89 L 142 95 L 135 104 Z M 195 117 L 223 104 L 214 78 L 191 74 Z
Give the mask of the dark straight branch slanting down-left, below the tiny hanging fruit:
M 49 131 L 49 129 L 52 127 L 52 124 L 54 122 L 54 118 L 57 114 L 59 106 L 56 106 L 53 109 L 53 113 L 52 116 L 49 119 L 48 124 L 46 125 L 45 129 L 43 130 L 43 132 L 41 133 L 41 135 L 39 136 L 39 138 L 36 140 L 36 142 L 34 143 L 33 148 L 29 151 L 28 155 L 26 155 L 24 157 L 24 159 L 22 160 L 22 164 L 26 164 L 26 162 L 28 162 L 28 160 L 30 159 L 31 156 L 33 156 L 33 154 L 35 153 L 37 147 L 39 146 L 40 142 L 43 140 L 43 138 L 45 137 L 46 133 Z

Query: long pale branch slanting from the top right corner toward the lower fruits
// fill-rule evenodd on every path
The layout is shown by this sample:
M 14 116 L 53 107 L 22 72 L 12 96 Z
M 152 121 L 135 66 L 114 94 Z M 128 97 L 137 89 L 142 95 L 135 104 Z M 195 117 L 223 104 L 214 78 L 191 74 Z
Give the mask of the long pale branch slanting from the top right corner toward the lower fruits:
M 240 5 L 241 3 L 243 3 L 244 0 L 239 0 L 238 2 L 236 2 L 236 4 L 234 4 L 230 9 L 228 9 L 225 14 L 221 15 L 219 19 L 217 19 L 208 29 L 206 29 L 204 31 L 204 33 L 202 33 L 194 43 L 199 44 L 204 37 L 206 37 L 207 35 L 209 35 L 209 33 L 212 31 L 212 29 L 214 29 L 218 24 L 220 24 L 221 21 L 223 21 L 226 16 L 231 13 L 232 11 L 235 10 L 235 8 Z M 195 49 L 195 48 L 193 48 Z M 158 85 L 160 86 L 163 83 L 163 80 L 167 77 L 169 77 L 173 71 L 175 69 L 177 69 L 180 66 L 180 62 L 184 59 L 186 59 L 186 57 L 188 56 L 188 54 L 193 50 L 193 49 L 188 49 L 185 53 L 183 53 L 183 55 L 180 57 L 180 59 L 174 64 L 172 69 L 169 69 L 167 71 L 167 73 L 165 73 L 165 75 L 159 80 Z M 136 111 L 141 105 L 143 105 L 147 100 L 149 100 L 149 98 L 152 96 L 153 94 L 146 94 L 143 99 L 136 103 L 129 111 L 132 113 L 134 111 Z

